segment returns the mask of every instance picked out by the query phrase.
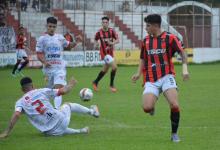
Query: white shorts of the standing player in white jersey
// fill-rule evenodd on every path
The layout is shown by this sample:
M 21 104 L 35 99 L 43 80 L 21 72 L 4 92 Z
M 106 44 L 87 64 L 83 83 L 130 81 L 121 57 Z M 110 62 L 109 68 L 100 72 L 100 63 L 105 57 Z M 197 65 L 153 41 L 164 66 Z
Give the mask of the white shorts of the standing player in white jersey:
M 45 71 L 44 74 L 47 76 L 48 88 L 54 88 L 54 85 L 61 84 L 66 85 L 66 69 Z

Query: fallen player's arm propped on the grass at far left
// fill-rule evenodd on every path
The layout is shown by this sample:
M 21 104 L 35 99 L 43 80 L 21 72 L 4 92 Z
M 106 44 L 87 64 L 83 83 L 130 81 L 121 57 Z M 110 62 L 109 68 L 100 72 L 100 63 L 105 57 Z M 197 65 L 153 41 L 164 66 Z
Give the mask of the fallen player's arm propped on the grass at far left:
M 6 138 L 11 133 L 13 127 L 15 126 L 15 124 L 18 121 L 20 116 L 21 116 L 21 112 L 19 112 L 19 111 L 14 112 L 7 129 L 0 134 L 0 138 Z

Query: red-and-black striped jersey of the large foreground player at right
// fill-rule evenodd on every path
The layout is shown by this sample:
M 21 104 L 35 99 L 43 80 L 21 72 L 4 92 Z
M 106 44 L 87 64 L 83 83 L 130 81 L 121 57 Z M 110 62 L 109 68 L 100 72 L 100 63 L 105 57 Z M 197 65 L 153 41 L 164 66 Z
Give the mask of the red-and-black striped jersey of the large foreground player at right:
M 142 42 L 140 59 L 144 60 L 144 82 L 155 82 L 167 74 L 175 75 L 172 55 L 183 48 L 174 34 L 147 35 Z

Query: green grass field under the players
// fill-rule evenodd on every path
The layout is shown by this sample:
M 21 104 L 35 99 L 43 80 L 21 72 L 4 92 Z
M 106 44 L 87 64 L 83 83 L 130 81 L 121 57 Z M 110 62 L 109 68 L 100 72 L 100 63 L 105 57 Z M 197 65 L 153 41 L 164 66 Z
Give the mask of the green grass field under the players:
M 156 104 L 156 114 L 151 117 L 141 108 L 141 81 L 131 83 L 135 66 L 118 69 L 118 92 L 109 90 L 109 73 L 100 82 L 100 91 L 90 102 L 82 102 L 78 93 L 90 87 L 101 67 L 68 68 L 68 78 L 74 75 L 77 86 L 64 101 L 85 106 L 97 104 L 101 116 L 72 114 L 70 127 L 89 126 L 88 135 L 45 137 L 22 116 L 11 135 L 0 140 L 0 150 L 217 150 L 220 147 L 220 63 L 189 65 L 191 79 L 183 82 L 181 66 L 176 65 L 181 122 L 180 143 L 170 141 L 169 107 L 161 95 Z M 8 125 L 15 101 L 22 96 L 20 78 L 10 76 L 11 69 L 0 69 L 0 132 Z M 40 69 L 25 69 L 36 87 L 45 85 Z

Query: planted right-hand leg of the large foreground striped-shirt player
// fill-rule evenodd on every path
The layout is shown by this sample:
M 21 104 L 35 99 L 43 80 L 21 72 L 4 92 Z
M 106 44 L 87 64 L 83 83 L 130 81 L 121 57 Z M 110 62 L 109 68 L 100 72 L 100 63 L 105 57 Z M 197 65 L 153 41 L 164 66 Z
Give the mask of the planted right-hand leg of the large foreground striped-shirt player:
M 171 140 L 173 142 L 179 142 L 180 139 L 177 135 L 177 130 L 179 127 L 180 120 L 180 107 L 178 103 L 177 85 L 172 75 L 169 75 L 164 78 L 164 84 L 162 88 L 164 91 L 164 96 L 166 97 L 170 105 L 170 120 L 172 128 Z

